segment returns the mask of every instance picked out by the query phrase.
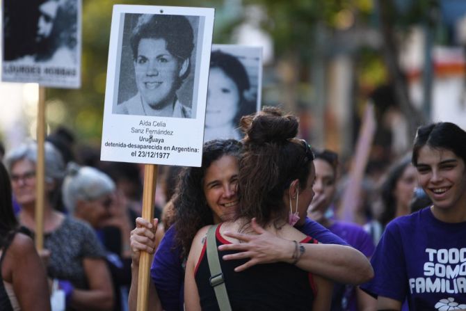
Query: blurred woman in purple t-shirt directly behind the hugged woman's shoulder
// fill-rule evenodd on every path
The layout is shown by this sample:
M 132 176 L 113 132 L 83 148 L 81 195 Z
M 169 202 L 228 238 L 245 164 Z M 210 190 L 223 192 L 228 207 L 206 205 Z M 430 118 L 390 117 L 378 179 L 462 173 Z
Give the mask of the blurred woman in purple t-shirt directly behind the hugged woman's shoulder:
M 314 198 L 308 209 L 308 216 L 344 239 L 370 259 L 375 246 L 369 234 L 355 223 L 335 221 L 332 218 L 332 203 L 337 190 L 338 154 L 330 150 L 314 151 L 316 180 L 312 189 Z M 376 300 L 359 287 L 335 284 L 332 295 L 332 311 L 371 311 L 376 308 Z

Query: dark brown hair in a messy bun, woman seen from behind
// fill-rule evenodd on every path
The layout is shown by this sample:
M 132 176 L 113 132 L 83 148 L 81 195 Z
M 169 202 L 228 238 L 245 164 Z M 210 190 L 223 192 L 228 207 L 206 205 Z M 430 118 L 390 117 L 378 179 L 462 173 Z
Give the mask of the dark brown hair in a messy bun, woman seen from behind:
M 243 156 L 239 161 L 238 218 L 256 218 L 259 225 L 282 225 L 288 210 L 283 193 L 293 180 L 304 189 L 314 154 L 296 138 L 298 119 L 278 108 L 264 107 L 241 118 Z

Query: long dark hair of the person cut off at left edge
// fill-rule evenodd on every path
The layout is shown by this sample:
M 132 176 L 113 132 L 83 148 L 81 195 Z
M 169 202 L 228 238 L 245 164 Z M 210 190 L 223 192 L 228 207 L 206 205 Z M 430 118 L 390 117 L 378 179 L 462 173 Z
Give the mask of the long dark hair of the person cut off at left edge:
M 18 227 L 13 211 L 10 176 L 0 162 L 0 248 L 8 243 L 10 234 Z

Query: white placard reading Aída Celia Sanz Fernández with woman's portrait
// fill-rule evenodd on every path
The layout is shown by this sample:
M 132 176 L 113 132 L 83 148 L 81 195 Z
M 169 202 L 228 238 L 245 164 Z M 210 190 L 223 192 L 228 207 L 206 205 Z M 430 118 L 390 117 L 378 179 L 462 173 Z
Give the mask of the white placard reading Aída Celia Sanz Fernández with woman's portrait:
M 213 8 L 113 6 L 101 159 L 201 166 Z

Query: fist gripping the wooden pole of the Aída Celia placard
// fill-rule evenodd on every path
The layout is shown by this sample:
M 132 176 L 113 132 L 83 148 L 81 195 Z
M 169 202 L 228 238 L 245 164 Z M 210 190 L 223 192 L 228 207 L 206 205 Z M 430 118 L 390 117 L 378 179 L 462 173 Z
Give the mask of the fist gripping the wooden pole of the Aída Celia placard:
M 131 231 L 130 237 L 131 260 L 133 264 L 139 264 L 141 250 L 150 254 L 155 252 L 155 233 L 158 223 L 159 220 L 157 218 L 154 218 L 152 223 L 141 217 L 136 218 L 136 228 Z

